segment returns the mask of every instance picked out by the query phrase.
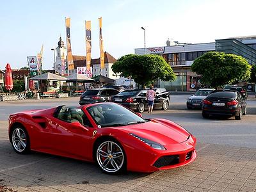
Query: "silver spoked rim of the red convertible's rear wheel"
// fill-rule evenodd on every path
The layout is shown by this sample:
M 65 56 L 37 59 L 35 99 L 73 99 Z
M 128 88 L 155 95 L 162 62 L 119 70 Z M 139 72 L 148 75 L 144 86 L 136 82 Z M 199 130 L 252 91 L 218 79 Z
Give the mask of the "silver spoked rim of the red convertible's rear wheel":
M 17 127 L 12 132 L 12 144 L 15 150 L 23 152 L 27 145 L 26 133 Z

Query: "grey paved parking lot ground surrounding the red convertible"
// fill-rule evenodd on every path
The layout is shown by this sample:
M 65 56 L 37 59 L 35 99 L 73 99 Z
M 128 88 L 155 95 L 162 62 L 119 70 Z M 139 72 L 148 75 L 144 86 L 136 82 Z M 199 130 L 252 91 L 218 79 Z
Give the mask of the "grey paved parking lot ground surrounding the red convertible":
M 0 191 L 256 191 L 256 99 L 248 100 L 248 115 L 237 121 L 204 119 L 200 110 L 186 109 L 186 98 L 172 95 L 168 111 L 143 116 L 168 118 L 193 133 L 198 140 L 195 162 L 151 174 L 117 176 L 102 173 L 92 163 L 13 151 L 7 132 L 10 113 L 74 106 L 78 98 L 0 102 Z

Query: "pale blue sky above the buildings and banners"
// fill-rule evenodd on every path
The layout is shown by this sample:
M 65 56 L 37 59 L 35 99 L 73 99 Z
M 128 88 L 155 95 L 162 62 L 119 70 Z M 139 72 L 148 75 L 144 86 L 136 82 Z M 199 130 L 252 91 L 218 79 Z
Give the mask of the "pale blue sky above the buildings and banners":
M 44 44 L 43 67 L 51 68 L 60 35 L 66 44 L 65 17 L 71 18 L 72 53 L 85 55 L 84 20 L 92 20 L 92 58 L 99 58 L 98 17 L 104 51 L 115 58 L 144 46 L 179 42 L 214 42 L 218 38 L 256 35 L 253 0 L 3 1 L 0 6 L 0 68 L 27 65 Z

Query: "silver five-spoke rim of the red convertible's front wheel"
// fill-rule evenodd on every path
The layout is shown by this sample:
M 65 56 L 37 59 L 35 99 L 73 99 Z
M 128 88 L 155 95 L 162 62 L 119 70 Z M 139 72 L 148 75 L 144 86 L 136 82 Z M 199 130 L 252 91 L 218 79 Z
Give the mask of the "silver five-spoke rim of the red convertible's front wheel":
M 114 173 L 124 164 L 124 152 L 113 141 L 105 141 L 97 148 L 97 161 L 102 170 Z

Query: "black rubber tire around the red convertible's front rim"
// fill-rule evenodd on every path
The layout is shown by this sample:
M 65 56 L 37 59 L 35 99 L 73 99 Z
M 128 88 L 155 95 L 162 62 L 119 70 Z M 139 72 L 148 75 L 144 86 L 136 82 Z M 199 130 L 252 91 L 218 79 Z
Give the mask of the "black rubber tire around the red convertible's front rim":
M 102 159 L 102 158 L 100 158 L 102 156 L 100 156 L 100 153 L 98 153 L 98 150 L 99 149 L 102 150 L 101 147 L 102 146 L 104 147 L 104 145 L 108 145 L 106 143 L 109 143 L 109 142 L 113 143 L 112 144 L 113 150 L 117 149 L 117 152 L 111 151 L 111 153 L 108 154 L 106 159 Z M 107 148 L 108 148 L 108 146 L 107 146 Z M 115 153 L 120 153 L 120 152 L 122 152 L 122 154 L 123 154 L 122 157 L 114 157 Z M 101 153 L 104 154 L 103 152 L 101 152 Z M 102 170 L 102 172 L 104 172 L 104 173 L 108 173 L 111 175 L 118 175 L 120 173 L 124 173 L 127 171 L 127 160 L 126 160 L 124 148 L 118 141 L 116 141 L 114 139 L 106 138 L 104 140 L 99 141 L 99 143 L 97 143 L 97 145 L 95 147 L 94 155 L 95 155 L 95 161 L 96 161 L 97 165 L 99 166 L 100 170 Z M 111 157 L 109 157 L 110 155 L 111 155 Z M 120 154 L 118 154 L 118 155 L 120 156 Z M 110 160 L 108 160 L 108 159 L 110 159 Z M 111 161 L 113 161 L 113 160 L 116 161 L 116 163 L 112 163 Z M 103 166 L 105 161 L 107 163 L 105 164 L 105 166 Z M 110 162 L 108 163 L 108 161 L 110 161 Z M 115 168 L 112 164 L 115 164 L 115 165 L 120 164 L 120 167 L 116 166 L 116 168 Z

